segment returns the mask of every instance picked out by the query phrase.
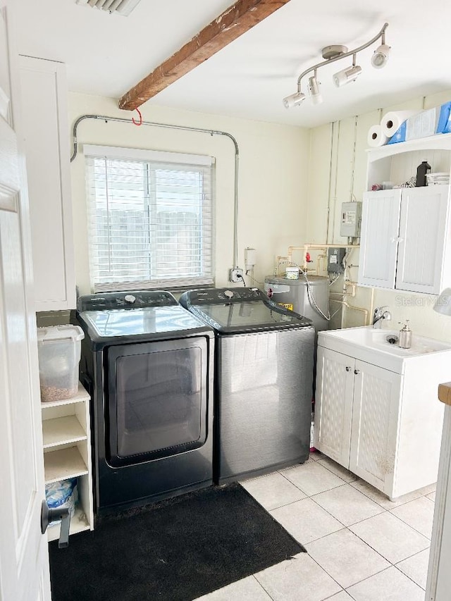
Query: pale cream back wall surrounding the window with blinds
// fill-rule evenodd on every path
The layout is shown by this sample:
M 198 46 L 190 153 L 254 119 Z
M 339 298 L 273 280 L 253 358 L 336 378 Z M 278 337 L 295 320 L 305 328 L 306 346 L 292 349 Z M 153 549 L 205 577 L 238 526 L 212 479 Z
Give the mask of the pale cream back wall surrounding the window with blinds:
M 238 264 L 244 268 L 244 249 L 257 249 L 257 283 L 273 273 L 275 257 L 290 244 L 304 241 L 306 230 L 309 130 L 258 121 L 141 107 L 143 120 L 230 133 L 240 150 L 238 180 Z M 69 94 L 70 127 L 85 114 L 137 118 L 120 111 L 115 99 Z M 235 149 L 225 136 L 169 130 L 128 123 L 83 120 L 78 127 L 79 154 L 71 166 L 75 268 L 80 294 L 89 294 L 85 161 L 82 144 L 105 144 L 216 157 L 216 285 L 227 286 L 233 267 L 233 201 Z M 247 279 L 247 285 L 252 282 Z

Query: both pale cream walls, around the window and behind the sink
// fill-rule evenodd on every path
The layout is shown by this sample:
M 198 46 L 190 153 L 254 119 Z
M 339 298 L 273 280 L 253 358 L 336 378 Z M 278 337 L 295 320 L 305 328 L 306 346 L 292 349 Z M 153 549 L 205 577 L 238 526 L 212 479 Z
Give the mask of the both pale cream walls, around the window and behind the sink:
M 451 98 L 451 92 L 416 98 L 397 106 L 350 117 L 339 122 L 306 130 L 257 121 L 175 111 L 163 107 L 142 106 L 144 120 L 233 135 L 240 148 L 238 264 L 244 267 L 245 247 L 257 249 L 255 284 L 273 273 L 276 256 L 286 255 L 289 246 L 305 243 L 345 244 L 340 237 L 340 207 L 351 199 L 362 200 L 366 184 L 366 136 L 369 127 L 391 110 L 428 109 Z M 69 123 L 85 114 L 131 118 L 120 111 L 115 99 L 87 94 L 69 94 Z M 133 113 L 134 114 L 134 113 Z M 90 292 L 87 254 L 87 216 L 85 205 L 85 168 L 82 144 L 111 144 L 168 151 L 211 154 L 217 161 L 216 199 L 216 285 L 226 286 L 228 269 L 233 266 L 233 169 L 232 142 L 223 136 L 181 132 L 121 123 L 84 120 L 78 129 L 79 152 L 72 163 L 73 217 L 75 224 L 75 261 L 81 294 Z M 427 158 L 427 157 L 426 157 Z M 412 174 L 414 175 L 414 174 Z M 293 255 L 302 263 L 302 252 Z M 359 253 L 353 251 L 350 270 L 357 280 Z M 252 282 L 248 279 L 247 284 Z M 451 285 L 451 283 L 450 283 Z M 334 290 L 341 290 L 335 285 Z M 368 311 L 371 290 L 357 288 L 348 304 Z M 335 298 L 340 298 L 335 294 Z M 408 318 L 414 332 L 439 340 L 451 340 L 451 319 L 433 311 L 435 297 L 408 292 L 374 290 L 374 306 L 387 304 L 393 315 L 391 328 Z M 333 305 L 333 310 L 338 307 Z M 368 316 L 369 318 L 370 316 Z M 362 311 L 344 309 L 343 326 L 365 323 Z M 332 327 L 339 327 L 336 319 Z

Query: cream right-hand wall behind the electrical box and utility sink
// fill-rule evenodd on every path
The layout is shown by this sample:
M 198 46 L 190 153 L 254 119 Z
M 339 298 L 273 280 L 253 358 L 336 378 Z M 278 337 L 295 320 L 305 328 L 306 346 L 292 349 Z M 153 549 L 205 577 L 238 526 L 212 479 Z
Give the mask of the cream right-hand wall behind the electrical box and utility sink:
M 388 111 L 400 109 L 429 109 L 451 99 L 451 91 L 416 98 L 396 106 L 386 106 L 311 130 L 311 163 L 308 187 L 309 211 L 307 213 L 308 242 L 346 244 L 340 237 L 340 206 L 342 202 L 362 200 L 366 190 L 366 136 L 371 125 L 378 123 Z M 427 156 L 425 157 L 427 159 Z M 425 160 L 424 159 L 424 160 Z M 416 175 L 412 173 L 412 175 Z M 329 219 L 328 219 L 329 214 Z M 351 268 L 357 280 L 358 250 L 353 251 Z M 451 285 L 451 282 L 448 283 Z M 334 290 L 341 290 L 337 287 Z M 335 295 L 338 298 L 338 295 Z M 398 329 L 398 321 L 410 320 L 414 332 L 438 340 L 451 341 L 451 318 L 433 311 L 437 297 L 411 292 L 374 290 L 374 306 L 388 305 L 391 323 L 385 327 Z M 371 290 L 358 288 L 356 297 L 347 298 L 354 305 L 370 309 Z M 343 326 L 363 325 L 362 313 L 344 309 Z M 336 324 L 333 327 L 338 327 Z

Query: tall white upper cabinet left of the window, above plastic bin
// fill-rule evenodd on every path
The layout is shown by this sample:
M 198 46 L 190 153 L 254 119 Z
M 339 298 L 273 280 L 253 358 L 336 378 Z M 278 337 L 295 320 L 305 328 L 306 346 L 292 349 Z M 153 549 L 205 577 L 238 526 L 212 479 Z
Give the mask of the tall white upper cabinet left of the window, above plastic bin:
M 66 68 L 20 57 L 36 311 L 75 308 Z

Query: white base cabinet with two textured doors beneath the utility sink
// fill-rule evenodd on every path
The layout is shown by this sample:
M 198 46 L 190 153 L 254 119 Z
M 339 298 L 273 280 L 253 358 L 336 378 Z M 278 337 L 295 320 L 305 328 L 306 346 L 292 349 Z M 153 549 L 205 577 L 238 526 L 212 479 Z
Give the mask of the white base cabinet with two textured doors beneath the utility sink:
M 319 333 L 314 446 L 390 499 L 437 481 L 451 352 L 407 357 L 397 371 Z M 366 353 L 367 353 L 366 349 Z M 384 359 L 385 361 L 385 359 Z M 445 378 L 446 379 L 446 378 Z

